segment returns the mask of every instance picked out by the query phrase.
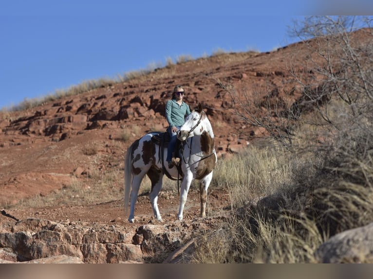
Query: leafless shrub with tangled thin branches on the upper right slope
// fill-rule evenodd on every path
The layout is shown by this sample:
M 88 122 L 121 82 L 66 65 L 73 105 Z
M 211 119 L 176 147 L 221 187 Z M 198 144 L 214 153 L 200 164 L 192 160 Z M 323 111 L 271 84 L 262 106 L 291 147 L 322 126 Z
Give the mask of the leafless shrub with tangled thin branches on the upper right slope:
M 243 123 L 264 128 L 289 148 L 302 138 L 296 133 L 302 123 L 316 128 L 315 138 L 329 139 L 341 126 L 360 125 L 357 116 L 371 118 L 373 31 L 361 28 L 370 27 L 370 23 L 370 17 L 307 17 L 294 29 L 294 34 L 304 39 L 307 59 L 297 61 L 292 57 L 298 53 L 293 53 L 287 66 L 294 78 L 290 81 L 293 90 L 302 96 L 296 102 L 277 98 L 280 91 L 285 95 L 292 92 L 269 81 L 246 88 L 222 82 L 232 97 L 236 116 Z M 304 119 L 309 113 L 313 117 Z

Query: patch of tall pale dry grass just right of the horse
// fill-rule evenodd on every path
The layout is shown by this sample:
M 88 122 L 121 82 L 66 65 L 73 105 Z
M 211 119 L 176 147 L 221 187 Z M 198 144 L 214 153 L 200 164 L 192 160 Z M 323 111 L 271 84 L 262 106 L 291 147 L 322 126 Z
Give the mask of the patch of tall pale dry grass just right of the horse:
M 235 207 L 243 206 L 248 200 L 271 195 L 290 182 L 291 157 L 292 154 L 273 145 L 250 146 L 232 159 L 218 160 L 211 186 L 229 189 Z

